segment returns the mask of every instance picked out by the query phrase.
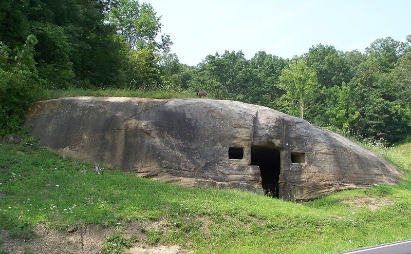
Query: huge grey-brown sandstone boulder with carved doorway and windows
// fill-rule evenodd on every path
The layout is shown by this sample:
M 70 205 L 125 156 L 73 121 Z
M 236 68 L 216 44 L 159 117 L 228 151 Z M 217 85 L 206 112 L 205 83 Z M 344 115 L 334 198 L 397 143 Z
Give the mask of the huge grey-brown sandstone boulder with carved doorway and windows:
M 396 184 L 403 174 L 338 134 L 233 101 L 64 97 L 34 103 L 25 125 L 41 145 L 74 158 L 163 182 L 283 199 Z

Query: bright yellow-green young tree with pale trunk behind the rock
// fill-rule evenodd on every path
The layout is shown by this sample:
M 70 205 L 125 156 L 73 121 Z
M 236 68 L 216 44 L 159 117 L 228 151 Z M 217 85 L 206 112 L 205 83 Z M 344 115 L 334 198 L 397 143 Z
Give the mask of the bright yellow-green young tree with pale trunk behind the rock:
M 280 101 L 286 113 L 304 119 L 306 110 L 313 105 L 319 84 L 315 72 L 300 59 L 290 63 L 279 76 L 279 87 L 284 90 Z

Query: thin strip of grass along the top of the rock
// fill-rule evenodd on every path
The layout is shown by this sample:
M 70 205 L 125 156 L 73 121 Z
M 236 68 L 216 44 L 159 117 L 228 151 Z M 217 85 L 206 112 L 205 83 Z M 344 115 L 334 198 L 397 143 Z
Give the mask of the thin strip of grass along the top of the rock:
M 67 90 L 46 90 L 42 100 L 57 99 L 66 96 L 122 96 L 122 97 L 146 97 L 152 99 L 170 99 L 170 98 L 194 98 L 196 94 L 190 91 L 164 92 L 164 91 L 147 91 L 144 89 L 131 88 L 101 88 L 101 89 L 67 89 Z

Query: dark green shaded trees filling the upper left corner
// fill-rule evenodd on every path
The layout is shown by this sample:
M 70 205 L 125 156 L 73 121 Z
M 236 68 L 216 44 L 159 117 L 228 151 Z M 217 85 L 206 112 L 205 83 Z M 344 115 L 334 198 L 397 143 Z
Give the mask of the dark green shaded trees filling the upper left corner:
M 35 35 L 33 56 L 48 88 L 113 86 L 124 82 L 124 44 L 104 11 L 110 0 L 4 0 L 0 41 L 21 47 Z

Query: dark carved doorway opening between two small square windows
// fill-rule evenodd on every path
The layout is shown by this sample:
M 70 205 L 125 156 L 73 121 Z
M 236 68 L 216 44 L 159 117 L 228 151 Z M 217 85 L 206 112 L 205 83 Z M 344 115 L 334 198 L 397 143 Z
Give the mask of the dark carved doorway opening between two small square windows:
M 271 143 L 267 143 L 265 146 L 252 146 L 251 165 L 260 168 L 264 194 L 278 198 L 278 181 L 281 172 L 280 151 Z

